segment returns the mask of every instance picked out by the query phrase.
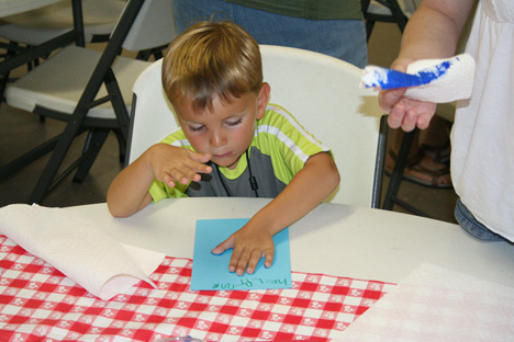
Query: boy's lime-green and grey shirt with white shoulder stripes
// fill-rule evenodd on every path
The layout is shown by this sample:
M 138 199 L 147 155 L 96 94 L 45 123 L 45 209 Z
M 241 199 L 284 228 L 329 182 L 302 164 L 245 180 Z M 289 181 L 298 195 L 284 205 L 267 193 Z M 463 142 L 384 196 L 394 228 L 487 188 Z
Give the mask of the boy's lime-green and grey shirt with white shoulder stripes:
M 194 150 L 182 129 L 170 134 L 161 142 Z M 275 198 L 304 167 L 309 157 L 322 151 L 328 149 L 289 112 L 269 104 L 262 118 L 257 121 L 255 136 L 248 148 L 259 196 Z M 202 174 L 200 182 L 190 182 L 188 185 L 178 183 L 176 187 L 154 181 L 149 193 L 155 202 L 169 197 L 255 197 L 248 179 L 248 164 L 245 156 L 242 156 L 234 170 L 213 168 L 212 173 Z

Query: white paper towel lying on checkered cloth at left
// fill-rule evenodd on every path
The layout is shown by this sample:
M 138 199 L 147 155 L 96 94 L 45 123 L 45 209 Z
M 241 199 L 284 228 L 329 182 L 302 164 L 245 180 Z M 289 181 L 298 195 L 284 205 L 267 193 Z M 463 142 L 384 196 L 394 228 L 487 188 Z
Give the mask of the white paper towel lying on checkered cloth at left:
M 0 208 L 0 231 L 103 300 L 148 278 L 165 254 L 121 243 L 85 215 L 13 204 Z

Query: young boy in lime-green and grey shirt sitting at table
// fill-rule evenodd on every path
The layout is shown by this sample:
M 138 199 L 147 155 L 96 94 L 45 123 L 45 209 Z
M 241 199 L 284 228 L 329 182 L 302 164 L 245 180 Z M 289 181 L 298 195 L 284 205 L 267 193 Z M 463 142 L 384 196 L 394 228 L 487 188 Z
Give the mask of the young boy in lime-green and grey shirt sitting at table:
M 170 45 L 163 86 L 181 129 L 113 181 L 108 206 L 126 217 L 152 201 L 185 196 L 273 197 L 212 252 L 233 248 L 228 270 L 271 266 L 272 237 L 339 183 L 329 151 L 283 109 L 268 105 L 259 46 L 234 23 L 201 22 Z

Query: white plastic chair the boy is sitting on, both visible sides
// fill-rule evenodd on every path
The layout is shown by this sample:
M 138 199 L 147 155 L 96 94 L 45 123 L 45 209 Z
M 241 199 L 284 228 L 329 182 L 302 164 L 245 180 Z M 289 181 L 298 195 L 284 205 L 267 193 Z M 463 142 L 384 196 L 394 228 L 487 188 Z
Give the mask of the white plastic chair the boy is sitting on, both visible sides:
M 270 103 L 290 111 L 334 153 L 342 182 L 327 202 L 379 207 L 387 125 L 376 93 L 359 88 L 361 70 L 297 48 L 262 45 L 260 52 Z M 160 68 L 154 62 L 134 86 L 128 163 L 178 127 Z

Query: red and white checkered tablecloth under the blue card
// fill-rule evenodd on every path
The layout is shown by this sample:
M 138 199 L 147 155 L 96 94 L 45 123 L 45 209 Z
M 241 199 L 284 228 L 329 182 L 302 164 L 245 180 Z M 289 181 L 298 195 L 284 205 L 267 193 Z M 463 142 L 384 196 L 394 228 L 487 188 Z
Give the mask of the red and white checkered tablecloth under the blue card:
M 394 285 L 292 273 L 291 289 L 191 292 L 192 261 L 101 300 L 0 235 L 0 341 L 327 341 Z

